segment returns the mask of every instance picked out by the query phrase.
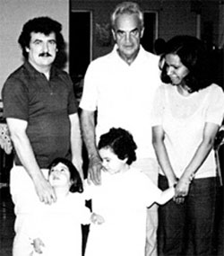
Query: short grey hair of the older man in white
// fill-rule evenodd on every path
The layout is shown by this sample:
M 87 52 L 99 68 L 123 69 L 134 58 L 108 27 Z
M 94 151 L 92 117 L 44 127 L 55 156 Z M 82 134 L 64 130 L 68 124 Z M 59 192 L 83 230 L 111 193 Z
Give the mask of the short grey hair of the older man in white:
M 110 22 L 113 30 L 115 29 L 115 26 L 116 26 L 117 17 L 122 14 L 137 14 L 140 21 L 141 28 L 143 28 L 144 17 L 139 4 L 136 4 L 134 2 L 123 2 L 121 4 L 116 5 L 114 12 L 110 16 Z

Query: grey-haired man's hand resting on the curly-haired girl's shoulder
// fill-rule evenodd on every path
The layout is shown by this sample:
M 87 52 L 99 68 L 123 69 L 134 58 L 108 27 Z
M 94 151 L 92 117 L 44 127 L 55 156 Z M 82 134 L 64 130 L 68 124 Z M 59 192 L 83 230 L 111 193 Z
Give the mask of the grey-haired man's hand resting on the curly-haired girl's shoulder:
M 103 168 L 101 159 L 98 155 L 90 156 L 88 168 L 88 181 L 92 181 L 95 185 L 101 184 L 101 169 Z

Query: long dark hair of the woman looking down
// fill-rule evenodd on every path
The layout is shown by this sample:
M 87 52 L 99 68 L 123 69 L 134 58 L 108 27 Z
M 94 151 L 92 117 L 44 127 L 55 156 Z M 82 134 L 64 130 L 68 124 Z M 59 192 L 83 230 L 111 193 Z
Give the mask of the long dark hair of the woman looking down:
M 185 76 L 184 81 L 191 89 L 191 93 L 211 85 L 209 56 L 202 40 L 187 35 L 176 36 L 168 40 L 165 53 L 160 58 L 160 64 L 164 63 L 161 80 L 166 84 L 171 83 L 167 74 L 168 66 L 164 61 L 168 54 L 177 55 L 182 64 L 189 70 L 189 74 Z

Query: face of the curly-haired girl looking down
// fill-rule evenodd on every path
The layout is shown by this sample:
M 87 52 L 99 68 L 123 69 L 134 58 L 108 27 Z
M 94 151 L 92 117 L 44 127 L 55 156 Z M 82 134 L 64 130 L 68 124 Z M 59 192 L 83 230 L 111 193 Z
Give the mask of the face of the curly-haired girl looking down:
M 102 159 L 103 167 L 110 174 L 123 172 L 126 168 L 126 159 L 121 160 L 109 147 L 99 149 L 99 155 Z

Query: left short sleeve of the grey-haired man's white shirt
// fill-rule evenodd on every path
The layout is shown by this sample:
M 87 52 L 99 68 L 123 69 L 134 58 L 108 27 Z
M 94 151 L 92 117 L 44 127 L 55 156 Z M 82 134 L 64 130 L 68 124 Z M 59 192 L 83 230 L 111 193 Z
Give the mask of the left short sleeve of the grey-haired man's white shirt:
M 95 64 L 95 61 L 93 61 L 90 63 L 84 77 L 83 92 L 80 102 L 80 108 L 82 110 L 95 111 L 97 109 L 97 86 L 99 84 L 99 77 L 99 69 Z

